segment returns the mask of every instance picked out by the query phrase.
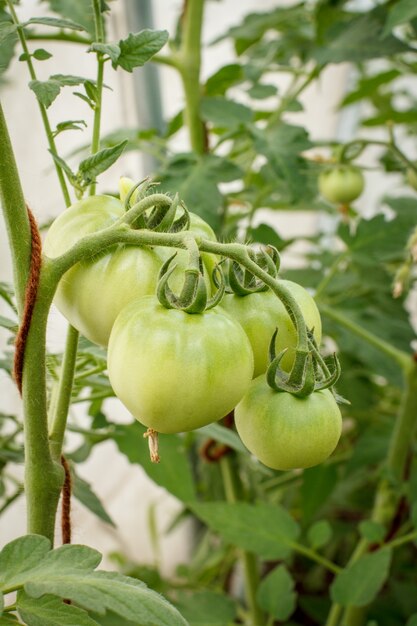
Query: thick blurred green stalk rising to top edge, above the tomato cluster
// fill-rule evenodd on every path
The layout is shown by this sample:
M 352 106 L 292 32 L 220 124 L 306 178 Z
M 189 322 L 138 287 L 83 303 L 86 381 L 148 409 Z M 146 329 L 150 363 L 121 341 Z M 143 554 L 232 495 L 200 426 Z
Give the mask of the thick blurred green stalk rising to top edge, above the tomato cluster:
M 197 154 L 204 154 L 206 150 L 204 126 L 200 116 L 203 14 L 204 0 L 186 0 L 178 63 L 185 95 L 185 122 L 188 126 L 191 148 Z

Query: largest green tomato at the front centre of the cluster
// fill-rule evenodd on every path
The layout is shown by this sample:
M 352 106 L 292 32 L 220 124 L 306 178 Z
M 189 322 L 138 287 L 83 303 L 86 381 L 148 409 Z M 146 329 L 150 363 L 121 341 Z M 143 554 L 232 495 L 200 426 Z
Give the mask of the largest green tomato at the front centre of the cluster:
M 236 406 L 249 387 L 253 355 L 242 327 L 219 307 L 188 314 L 145 296 L 116 319 L 108 371 L 115 394 L 139 422 L 177 433 Z

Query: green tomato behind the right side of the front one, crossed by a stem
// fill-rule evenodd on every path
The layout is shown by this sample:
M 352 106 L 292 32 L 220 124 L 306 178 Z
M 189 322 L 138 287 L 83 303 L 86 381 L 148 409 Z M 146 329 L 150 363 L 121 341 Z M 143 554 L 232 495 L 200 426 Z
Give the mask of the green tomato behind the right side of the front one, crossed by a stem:
M 300 306 L 307 328 L 314 328 L 317 344 L 321 342 L 321 319 L 314 299 L 308 291 L 290 280 L 281 280 Z M 281 360 L 281 367 L 289 372 L 294 363 L 297 332 L 284 305 L 272 291 L 251 293 L 247 296 L 228 294 L 221 301 L 221 307 L 234 317 L 243 327 L 252 346 L 255 358 L 254 377 L 266 372 L 269 365 L 268 349 L 276 328 L 278 335 L 276 351 L 287 348 Z

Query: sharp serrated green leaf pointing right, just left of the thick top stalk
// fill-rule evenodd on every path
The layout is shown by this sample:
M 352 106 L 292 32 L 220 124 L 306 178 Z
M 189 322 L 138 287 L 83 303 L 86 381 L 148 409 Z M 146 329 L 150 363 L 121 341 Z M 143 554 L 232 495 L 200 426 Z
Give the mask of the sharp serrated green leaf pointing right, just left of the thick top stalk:
M 119 41 L 120 55 L 113 61 L 113 67 L 122 67 L 131 72 L 135 67 L 141 67 L 168 41 L 166 30 L 141 30 L 139 33 L 130 33 L 126 39 Z

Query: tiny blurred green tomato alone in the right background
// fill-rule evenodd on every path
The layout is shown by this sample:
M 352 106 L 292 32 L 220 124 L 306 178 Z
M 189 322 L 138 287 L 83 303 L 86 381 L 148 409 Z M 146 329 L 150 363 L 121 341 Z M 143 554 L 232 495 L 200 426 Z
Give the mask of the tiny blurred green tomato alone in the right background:
M 359 198 L 365 181 L 361 170 L 353 165 L 331 167 L 319 176 L 319 190 L 329 202 L 349 204 Z

